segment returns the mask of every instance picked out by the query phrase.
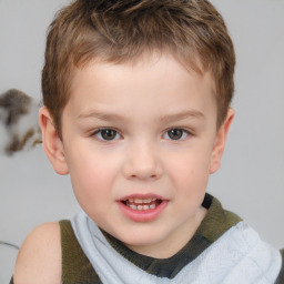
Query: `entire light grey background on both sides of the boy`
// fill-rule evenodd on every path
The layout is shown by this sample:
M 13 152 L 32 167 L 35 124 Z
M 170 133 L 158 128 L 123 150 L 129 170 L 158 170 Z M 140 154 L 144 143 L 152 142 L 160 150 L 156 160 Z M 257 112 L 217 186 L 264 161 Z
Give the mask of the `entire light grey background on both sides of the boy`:
M 0 93 L 40 99 L 45 30 L 69 1 L 0 0 Z M 209 192 L 276 247 L 284 246 L 284 0 L 214 0 L 236 49 L 236 116 L 222 169 Z M 1 138 L 0 138 L 1 139 Z M 20 245 L 36 225 L 78 210 L 69 176 L 57 175 L 41 146 L 0 156 L 0 240 Z M 0 246 L 0 283 L 13 250 Z

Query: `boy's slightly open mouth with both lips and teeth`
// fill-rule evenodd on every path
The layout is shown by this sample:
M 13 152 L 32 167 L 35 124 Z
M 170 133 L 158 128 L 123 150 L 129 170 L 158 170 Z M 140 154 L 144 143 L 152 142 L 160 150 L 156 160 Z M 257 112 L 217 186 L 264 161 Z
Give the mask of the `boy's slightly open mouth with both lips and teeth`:
M 159 217 L 166 205 L 168 200 L 154 195 L 132 195 L 120 200 L 119 207 L 123 214 L 134 222 L 148 222 Z

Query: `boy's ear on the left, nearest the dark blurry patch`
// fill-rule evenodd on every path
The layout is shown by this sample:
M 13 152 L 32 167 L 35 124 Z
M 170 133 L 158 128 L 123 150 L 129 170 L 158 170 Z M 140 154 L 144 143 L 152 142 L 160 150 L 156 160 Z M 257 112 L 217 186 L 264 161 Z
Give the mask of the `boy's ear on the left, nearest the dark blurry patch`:
M 54 171 L 58 174 L 68 174 L 63 143 L 54 128 L 52 115 L 45 106 L 42 106 L 39 111 L 39 124 L 43 149 Z

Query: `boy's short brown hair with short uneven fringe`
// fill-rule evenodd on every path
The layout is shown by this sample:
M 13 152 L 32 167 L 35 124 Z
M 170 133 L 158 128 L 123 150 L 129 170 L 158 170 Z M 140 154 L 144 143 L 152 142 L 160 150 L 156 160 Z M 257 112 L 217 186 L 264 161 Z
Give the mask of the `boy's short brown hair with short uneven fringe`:
M 217 126 L 234 91 L 235 54 L 221 14 L 206 0 L 77 0 L 50 24 L 42 71 L 43 104 L 61 134 L 72 69 L 92 59 L 122 63 L 166 51 L 215 81 Z

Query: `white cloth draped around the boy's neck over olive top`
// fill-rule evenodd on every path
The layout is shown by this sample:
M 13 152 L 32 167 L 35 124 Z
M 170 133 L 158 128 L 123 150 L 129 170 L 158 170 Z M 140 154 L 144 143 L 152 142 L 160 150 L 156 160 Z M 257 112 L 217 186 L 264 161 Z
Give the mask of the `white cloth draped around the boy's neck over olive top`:
M 282 265 L 280 252 L 262 242 L 245 222 L 240 222 L 169 280 L 151 275 L 120 255 L 84 212 L 71 224 L 104 284 L 272 284 Z

